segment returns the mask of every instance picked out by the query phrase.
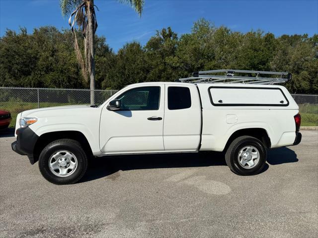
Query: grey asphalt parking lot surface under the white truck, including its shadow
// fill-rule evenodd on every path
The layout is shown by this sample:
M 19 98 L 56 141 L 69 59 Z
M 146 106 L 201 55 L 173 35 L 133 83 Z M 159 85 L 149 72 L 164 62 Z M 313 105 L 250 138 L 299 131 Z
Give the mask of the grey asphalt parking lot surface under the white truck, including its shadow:
M 318 235 L 318 131 L 273 149 L 261 174 L 233 174 L 219 153 L 92 159 L 77 184 L 54 185 L 0 138 L 0 237 Z

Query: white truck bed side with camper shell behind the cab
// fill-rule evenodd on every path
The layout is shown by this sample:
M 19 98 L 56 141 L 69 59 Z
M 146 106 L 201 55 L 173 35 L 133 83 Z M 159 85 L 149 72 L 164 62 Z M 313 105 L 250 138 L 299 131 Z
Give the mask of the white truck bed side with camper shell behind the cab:
M 218 103 L 218 106 L 214 106 L 211 103 L 209 88 L 210 87 L 224 87 L 218 88 L 217 95 L 213 97 L 218 100 L 224 99 L 224 104 L 259 104 L 255 106 L 244 106 L 244 105 L 230 105 L 225 106 Z M 252 101 L 244 101 L 249 96 L 233 93 L 233 90 L 228 87 L 236 88 L 279 88 L 285 95 L 289 104 L 286 106 L 286 99 L 280 90 L 266 90 L 261 89 L 255 91 L 250 90 L 253 98 L 257 98 L 257 92 L 261 91 L 261 97 Z M 200 90 L 202 107 L 203 107 L 203 130 L 202 130 L 202 145 L 201 150 L 213 150 L 223 151 L 230 136 L 239 129 L 246 128 L 263 128 L 266 130 L 270 140 L 271 148 L 287 146 L 293 144 L 295 140 L 295 121 L 294 116 L 299 112 L 298 105 L 289 94 L 287 89 L 283 86 L 278 85 L 242 85 L 242 84 L 222 84 L 222 83 L 201 83 L 198 84 Z M 230 90 L 230 91 L 228 91 Z M 243 89 L 238 90 L 239 92 Z M 267 92 L 268 91 L 268 92 Z M 211 91 L 210 91 L 211 92 Z M 246 92 L 246 91 L 245 91 Z M 248 93 L 247 91 L 246 93 Z M 267 92 L 267 97 L 266 97 Z M 264 95 L 265 94 L 265 95 Z M 219 99 L 220 98 L 220 99 Z M 243 99 L 241 99 L 243 98 Z M 227 101 L 229 99 L 229 101 Z M 284 100 L 284 104 L 279 105 L 280 101 Z M 261 104 L 274 104 L 279 106 L 267 105 L 262 106 Z M 222 106 L 221 106 L 222 105 Z M 235 123 L 229 123 L 227 116 L 231 115 L 232 118 L 236 119 Z M 211 145 L 212 148 L 211 148 Z

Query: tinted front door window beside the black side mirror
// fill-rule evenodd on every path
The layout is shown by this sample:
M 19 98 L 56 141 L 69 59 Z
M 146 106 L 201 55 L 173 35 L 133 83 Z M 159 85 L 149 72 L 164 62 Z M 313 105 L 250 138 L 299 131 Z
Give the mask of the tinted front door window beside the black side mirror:
M 122 111 L 158 110 L 160 87 L 133 88 L 116 99 L 121 101 Z

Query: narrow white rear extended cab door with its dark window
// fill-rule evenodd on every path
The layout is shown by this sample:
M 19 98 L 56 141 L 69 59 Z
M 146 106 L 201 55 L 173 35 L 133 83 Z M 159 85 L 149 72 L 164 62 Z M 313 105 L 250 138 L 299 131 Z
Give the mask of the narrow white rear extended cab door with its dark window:
M 165 151 L 198 150 L 201 138 L 201 103 L 192 84 L 166 84 L 163 122 Z

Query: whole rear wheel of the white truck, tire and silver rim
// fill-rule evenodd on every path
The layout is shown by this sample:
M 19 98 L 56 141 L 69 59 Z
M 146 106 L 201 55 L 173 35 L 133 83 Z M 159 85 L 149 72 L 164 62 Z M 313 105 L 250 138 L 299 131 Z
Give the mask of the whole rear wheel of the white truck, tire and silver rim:
M 256 175 L 263 169 L 266 155 L 266 148 L 259 139 L 240 136 L 230 144 L 225 154 L 225 161 L 238 175 Z

